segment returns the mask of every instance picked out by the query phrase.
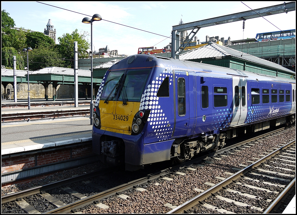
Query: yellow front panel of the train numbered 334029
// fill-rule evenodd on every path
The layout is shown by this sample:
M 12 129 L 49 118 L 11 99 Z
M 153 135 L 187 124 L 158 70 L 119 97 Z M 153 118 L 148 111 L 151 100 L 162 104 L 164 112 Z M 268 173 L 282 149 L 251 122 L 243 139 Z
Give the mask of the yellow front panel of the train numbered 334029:
M 123 105 L 122 101 L 115 101 L 112 113 L 106 113 L 107 105 L 103 100 L 99 102 L 101 126 L 108 131 L 131 135 L 133 117 L 139 111 L 140 102 L 127 102 L 127 105 Z

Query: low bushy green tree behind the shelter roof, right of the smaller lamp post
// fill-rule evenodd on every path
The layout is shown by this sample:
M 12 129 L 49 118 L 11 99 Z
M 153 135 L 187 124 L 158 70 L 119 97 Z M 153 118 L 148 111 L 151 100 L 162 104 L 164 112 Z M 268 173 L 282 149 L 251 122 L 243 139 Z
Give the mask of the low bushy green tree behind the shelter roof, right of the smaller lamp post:
M 48 66 L 65 66 L 65 61 L 55 45 L 48 46 L 40 44 L 36 49 L 29 52 L 30 70 L 35 71 Z

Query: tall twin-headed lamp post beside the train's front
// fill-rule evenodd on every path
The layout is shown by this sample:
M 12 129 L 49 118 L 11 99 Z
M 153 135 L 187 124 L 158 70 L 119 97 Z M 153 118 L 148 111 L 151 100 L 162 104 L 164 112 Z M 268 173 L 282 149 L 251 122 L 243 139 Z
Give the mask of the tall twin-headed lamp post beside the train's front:
M 91 23 L 91 103 L 90 103 L 90 125 L 93 125 L 93 21 L 102 20 L 99 14 L 94 14 L 92 19 L 85 17 L 82 23 Z

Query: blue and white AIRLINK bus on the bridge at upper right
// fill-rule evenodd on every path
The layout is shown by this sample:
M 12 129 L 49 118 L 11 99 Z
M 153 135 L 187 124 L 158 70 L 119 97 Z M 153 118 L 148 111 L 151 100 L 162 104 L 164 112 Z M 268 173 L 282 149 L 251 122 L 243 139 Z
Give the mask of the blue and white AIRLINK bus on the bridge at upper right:
M 289 39 L 296 37 L 296 29 L 286 30 L 286 31 L 273 31 L 267 33 L 256 34 L 256 39 L 260 42 L 278 39 Z

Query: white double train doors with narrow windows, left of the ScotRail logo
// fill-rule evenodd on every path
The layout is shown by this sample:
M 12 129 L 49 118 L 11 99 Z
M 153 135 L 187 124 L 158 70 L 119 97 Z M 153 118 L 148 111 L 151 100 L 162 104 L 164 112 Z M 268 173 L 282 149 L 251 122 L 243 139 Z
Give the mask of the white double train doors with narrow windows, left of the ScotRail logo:
M 247 118 L 247 79 L 232 77 L 233 88 L 233 117 L 230 126 L 244 124 Z

